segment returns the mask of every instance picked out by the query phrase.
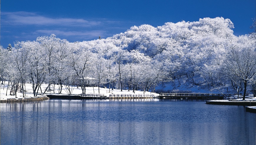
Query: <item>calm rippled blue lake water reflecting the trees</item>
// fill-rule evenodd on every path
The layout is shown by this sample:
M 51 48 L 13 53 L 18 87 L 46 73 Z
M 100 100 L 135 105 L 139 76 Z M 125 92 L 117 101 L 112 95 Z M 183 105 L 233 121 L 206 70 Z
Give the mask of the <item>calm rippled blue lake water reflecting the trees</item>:
M 205 102 L 1 103 L 1 144 L 255 144 L 256 114 Z

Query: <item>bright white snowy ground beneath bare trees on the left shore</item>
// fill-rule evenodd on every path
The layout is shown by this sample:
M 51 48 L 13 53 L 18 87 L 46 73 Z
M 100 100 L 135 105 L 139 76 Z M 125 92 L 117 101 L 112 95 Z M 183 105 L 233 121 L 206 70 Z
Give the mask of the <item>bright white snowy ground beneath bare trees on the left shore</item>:
M 7 82 L 8 83 L 8 82 Z M 5 82 L 5 85 L 1 85 L 1 89 L 0 89 L 0 99 L 1 100 L 7 100 L 7 99 L 10 99 L 10 98 L 15 98 L 15 96 L 13 95 L 10 95 L 10 90 L 8 89 L 7 90 L 7 83 Z M 42 84 L 41 85 L 41 89 L 42 89 L 42 92 L 44 92 L 44 90 L 46 89 L 47 87 L 47 84 Z M 53 86 L 51 86 L 51 91 L 50 92 L 46 92 L 46 93 L 49 93 L 49 94 L 58 94 L 58 85 L 55 85 L 55 88 Z M 11 87 L 10 87 L 11 88 Z M 81 94 L 82 93 L 82 90 L 81 90 L 81 87 L 78 87 L 77 86 L 73 86 L 72 87 L 74 90 L 72 92 L 72 94 Z M 54 91 L 53 91 L 54 89 Z M 105 96 L 109 96 L 109 94 L 134 94 L 134 92 L 132 91 L 128 91 L 128 90 L 117 90 L 117 89 L 110 89 L 110 92 L 109 92 L 109 89 L 108 88 L 99 88 L 100 90 L 98 90 L 98 87 L 86 87 L 86 94 L 101 94 L 101 95 L 105 95 Z M 6 96 L 6 91 L 7 91 L 7 96 Z M 39 89 L 39 93 L 41 93 L 41 90 Z M 61 94 L 67 94 L 67 90 L 66 88 L 62 87 L 62 91 L 61 91 Z M 143 91 L 135 91 L 135 94 L 137 95 L 142 95 L 143 94 Z M 145 94 L 153 94 L 154 96 L 159 96 L 159 94 L 157 93 L 150 93 L 150 92 L 145 92 Z M 32 90 L 32 85 L 31 84 L 26 84 L 26 95 L 25 97 L 33 97 L 33 90 Z M 22 98 L 23 97 L 23 93 L 20 93 L 19 91 L 17 91 L 17 98 Z

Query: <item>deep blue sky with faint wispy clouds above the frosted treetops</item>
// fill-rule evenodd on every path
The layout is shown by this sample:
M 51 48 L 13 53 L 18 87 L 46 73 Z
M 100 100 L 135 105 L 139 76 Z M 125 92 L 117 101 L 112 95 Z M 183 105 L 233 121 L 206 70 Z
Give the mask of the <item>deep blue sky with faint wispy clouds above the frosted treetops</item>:
M 234 34 L 251 32 L 255 0 L 4 0 L 1 2 L 1 45 L 55 34 L 69 42 L 107 38 L 131 26 L 229 18 Z

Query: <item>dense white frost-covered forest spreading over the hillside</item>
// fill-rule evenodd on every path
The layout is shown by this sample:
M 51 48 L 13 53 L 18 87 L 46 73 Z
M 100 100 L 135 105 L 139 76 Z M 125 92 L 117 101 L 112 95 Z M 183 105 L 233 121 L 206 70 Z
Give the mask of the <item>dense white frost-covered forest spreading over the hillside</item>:
M 46 90 L 78 85 L 83 93 L 90 85 L 154 92 L 167 83 L 188 83 L 256 95 L 254 35 L 238 37 L 233 28 L 230 19 L 217 17 L 132 26 L 93 41 L 71 43 L 54 34 L 17 41 L 0 48 L 1 80 L 13 94 L 31 83 L 34 96 L 43 83 Z

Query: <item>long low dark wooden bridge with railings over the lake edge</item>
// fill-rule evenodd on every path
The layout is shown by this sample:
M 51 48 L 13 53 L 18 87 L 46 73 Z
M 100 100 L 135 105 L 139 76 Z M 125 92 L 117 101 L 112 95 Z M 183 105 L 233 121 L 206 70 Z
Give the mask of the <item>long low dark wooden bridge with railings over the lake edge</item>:
M 232 97 L 234 94 L 216 94 L 216 93 L 160 93 L 159 99 L 218 99 L 223 97 Z

